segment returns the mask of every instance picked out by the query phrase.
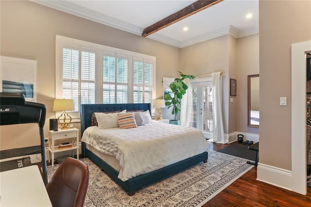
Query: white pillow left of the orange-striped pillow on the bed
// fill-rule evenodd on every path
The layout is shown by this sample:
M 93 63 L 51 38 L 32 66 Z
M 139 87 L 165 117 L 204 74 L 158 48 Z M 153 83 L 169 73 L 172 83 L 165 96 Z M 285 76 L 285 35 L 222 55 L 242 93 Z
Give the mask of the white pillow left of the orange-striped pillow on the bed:
M 121 113 L 126 113 L 126 110 L 121 111 Z M 120 113 L 95 113 L 98 127 L 100 129 L 117 128 L 118 124 L 118 114 Z

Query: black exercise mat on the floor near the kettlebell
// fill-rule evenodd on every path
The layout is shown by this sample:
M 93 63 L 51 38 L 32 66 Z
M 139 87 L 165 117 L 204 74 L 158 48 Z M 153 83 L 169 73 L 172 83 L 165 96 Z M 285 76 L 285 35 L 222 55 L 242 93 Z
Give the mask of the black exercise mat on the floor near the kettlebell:
M 256 152 L 249 150 L 248 147 L 253 145 L 246 145 L 238 142 L 230 144 L 228 147 L 218 150 L 219 153 L 225 153 L 228 155 L 242 157 L 244 159 L 249 159 L 255 161 Z

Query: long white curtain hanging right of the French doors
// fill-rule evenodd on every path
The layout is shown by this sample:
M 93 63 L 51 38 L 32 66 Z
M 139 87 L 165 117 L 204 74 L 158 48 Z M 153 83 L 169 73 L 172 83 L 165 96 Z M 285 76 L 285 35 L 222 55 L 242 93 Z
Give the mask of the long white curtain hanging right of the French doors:
M 222 113 L 222 76 L 220 72 L 212 73 L 212 104 L 213 104 L 213 142 L 225 144 L 228 140 L 225 140 L 224 136 L 224 124 Z M 228 138 L 226 138 L 228 139 Z

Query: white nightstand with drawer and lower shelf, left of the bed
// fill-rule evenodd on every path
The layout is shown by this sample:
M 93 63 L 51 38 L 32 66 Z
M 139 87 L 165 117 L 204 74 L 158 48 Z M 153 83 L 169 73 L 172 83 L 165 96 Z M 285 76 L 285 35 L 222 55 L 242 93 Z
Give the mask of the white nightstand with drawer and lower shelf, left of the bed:
M 66 149 L 59 149 L 58 144 L 55 145 L 55 140 L 61 140 L 61 142 L 70 142 L 72 147 Z M 49 130 L 49 152 L 52 154 L 52 167 L 54 166 L 54 153 L 77 150 L 77 159 L 79 159 L 79 129 L 58 129 L 58 131 Z M 50 153 L 47 153 L 50 162 Z M 73 152 L 72 152 L 73 155 Z

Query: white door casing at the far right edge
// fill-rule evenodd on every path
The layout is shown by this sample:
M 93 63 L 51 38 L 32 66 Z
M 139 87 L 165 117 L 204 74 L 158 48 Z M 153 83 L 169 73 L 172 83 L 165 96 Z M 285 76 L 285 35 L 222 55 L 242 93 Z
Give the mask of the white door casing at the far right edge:
M 292 182 L 291 190 L 306 195 L 306 52 L 311 40 L 292 45 Z

